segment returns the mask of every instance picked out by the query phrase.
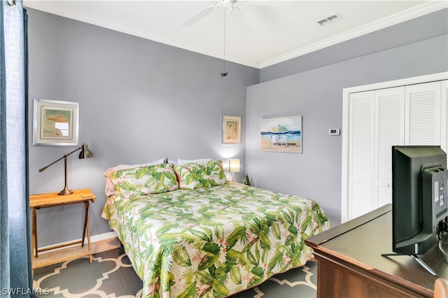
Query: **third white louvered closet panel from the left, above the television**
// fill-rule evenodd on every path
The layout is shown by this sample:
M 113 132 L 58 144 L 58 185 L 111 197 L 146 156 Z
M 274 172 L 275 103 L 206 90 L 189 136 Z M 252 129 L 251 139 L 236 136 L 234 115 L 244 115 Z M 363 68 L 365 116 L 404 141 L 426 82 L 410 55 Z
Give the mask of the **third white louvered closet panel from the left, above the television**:
M 405 145 L 440 145 L 441 83 L 406 87 Z

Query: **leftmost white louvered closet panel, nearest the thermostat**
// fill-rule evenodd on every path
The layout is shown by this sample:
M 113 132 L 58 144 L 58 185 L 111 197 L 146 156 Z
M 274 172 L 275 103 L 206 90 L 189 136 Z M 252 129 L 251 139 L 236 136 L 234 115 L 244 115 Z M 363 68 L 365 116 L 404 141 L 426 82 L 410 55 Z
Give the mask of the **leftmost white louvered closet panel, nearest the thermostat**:
M 350 96 L 349 218 L 372 210 L 374 92 Z

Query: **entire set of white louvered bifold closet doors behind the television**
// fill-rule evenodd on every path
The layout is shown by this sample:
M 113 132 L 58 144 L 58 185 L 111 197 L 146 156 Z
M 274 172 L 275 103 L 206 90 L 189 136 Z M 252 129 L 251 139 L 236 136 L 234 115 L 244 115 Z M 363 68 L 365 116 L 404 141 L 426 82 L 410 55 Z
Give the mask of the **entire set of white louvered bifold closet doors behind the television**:
M 350 94 L 349 220 L 392 202 L 392 146 L 447 151 L 447 93 L 444 80 Z

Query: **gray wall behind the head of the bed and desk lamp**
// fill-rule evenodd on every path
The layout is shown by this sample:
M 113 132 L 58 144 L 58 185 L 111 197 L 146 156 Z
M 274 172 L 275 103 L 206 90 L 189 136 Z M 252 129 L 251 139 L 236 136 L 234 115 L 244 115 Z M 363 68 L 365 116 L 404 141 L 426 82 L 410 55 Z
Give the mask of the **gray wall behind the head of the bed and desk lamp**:
M 30 193 L 64 186 L 64 162 L 38 169 L 74 150 L 73 146 L 32 146 L 33 98 L 80 103 L 80 143 L 92 159 L 69 157 L 69 187 L 90 188 L 92 235 L 109 232 L 100 217 L 106 195 L 102 173 L 116 164 L 163 157 L 241 159 L 241 145 L 221 144 L 221 116 L 246 113 L 246 86 L 259 71 L 143 38 L 28 9 Z M 38 211 L 38 244 L 79 239 L 83 206 Z

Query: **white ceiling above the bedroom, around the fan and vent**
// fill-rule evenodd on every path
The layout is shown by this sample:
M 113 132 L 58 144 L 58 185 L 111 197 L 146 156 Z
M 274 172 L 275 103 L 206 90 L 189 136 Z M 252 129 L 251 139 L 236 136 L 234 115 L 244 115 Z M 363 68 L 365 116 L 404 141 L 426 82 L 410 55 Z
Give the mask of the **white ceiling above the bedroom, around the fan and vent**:
M 235 13 L 220 6 L 182 24 L 218 2 L 24 0 L 24 6 L 258 69 L 448 7 L 446 0 L 241 0 Z M 317 23 L 335 14 L 342 19 Z

